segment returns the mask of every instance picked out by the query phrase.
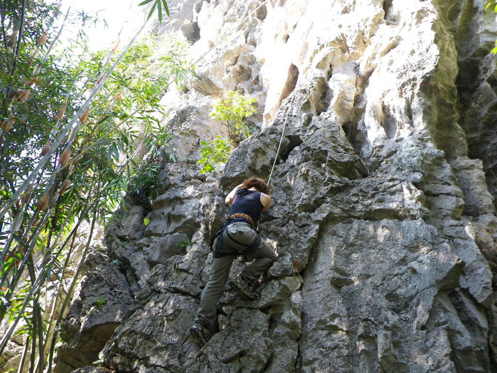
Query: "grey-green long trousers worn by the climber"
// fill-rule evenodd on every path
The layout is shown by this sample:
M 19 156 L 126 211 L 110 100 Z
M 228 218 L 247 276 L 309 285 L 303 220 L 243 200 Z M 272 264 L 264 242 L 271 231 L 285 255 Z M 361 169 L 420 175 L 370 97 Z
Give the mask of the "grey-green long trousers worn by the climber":
M 245 222 L 232 223 L 228 225 L 227 229 L 236 241 L 247 246 L 258 236 L 258 233 Z M 216 241 L 218 239 L 220 237 L 216 238 Z M 224 256 L 212 260 L 211 277 L 204 287 L 198 306 L 197 321 L 206 327 L 212 327 L 216 322 L 217 304 L 226 287 L 233 260 L 247 249 L 247 246 L 239 245 L 231 240 L 226 232 L 223 233 L 222 239 Z M 216 247 L 216 241 L 214 241 L 214 247 Z M 260 240 L 259 245 L 248 258 L 254 260 L 242 271 L 240 276 L 244 280 L 256 281 L 271 267 L 277 256 L 264 240 Z

